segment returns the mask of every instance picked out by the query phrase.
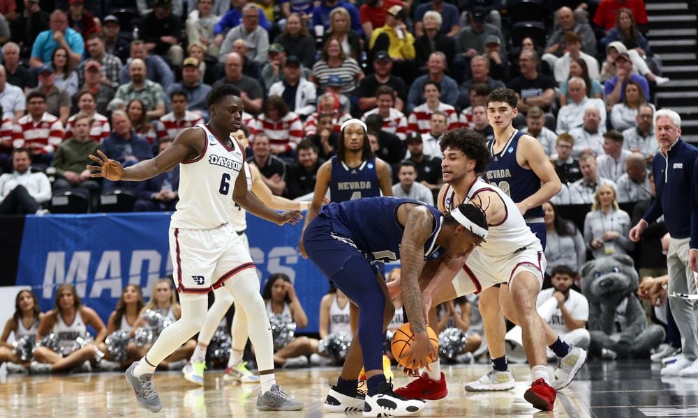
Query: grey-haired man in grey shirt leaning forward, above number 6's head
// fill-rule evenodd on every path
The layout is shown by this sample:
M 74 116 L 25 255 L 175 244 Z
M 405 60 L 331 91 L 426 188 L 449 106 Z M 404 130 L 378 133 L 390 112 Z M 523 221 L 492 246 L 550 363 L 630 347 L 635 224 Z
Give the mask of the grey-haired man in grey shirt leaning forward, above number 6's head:
M 258 13 L 260 10 L 253 4 L 248 4 L 242 8 L 242 24 L 230 29 L 223 45 L 219 59 L 225 61 L 225 56 L 232 51 L 232 42 L 242 39 L 247 45 L 246 58 L 259 65 L 267 62 L 269 54 L 269 33 L 259 25 Z

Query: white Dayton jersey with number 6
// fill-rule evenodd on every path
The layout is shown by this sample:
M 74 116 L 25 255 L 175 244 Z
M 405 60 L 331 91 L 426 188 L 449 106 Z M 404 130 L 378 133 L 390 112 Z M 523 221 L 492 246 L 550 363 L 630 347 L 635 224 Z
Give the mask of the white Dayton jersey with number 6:
M 193 160 L 179 164 L 179 202 L 170 226 L 214 229 L 232 219 L 232 190 L 242 170 L 244 153 L 237 141 L 228 148 L 206 125 L 195 127 L 205 132 L 204 150 Z

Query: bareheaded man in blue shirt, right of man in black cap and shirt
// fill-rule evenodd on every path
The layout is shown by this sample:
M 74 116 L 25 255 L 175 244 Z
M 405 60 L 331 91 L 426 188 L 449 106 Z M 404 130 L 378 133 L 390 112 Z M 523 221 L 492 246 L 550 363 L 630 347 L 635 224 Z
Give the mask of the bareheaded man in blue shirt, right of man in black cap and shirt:
M 417 77 L 410 87 L 405 114 L 413 112 L 415 107 L 424 103 L 426 100 L 424 98 L 424 85 L 429 81 L 439 85 L 440 102 L 451 106 L 454 106 L 458 102 L 458 84 L 454 79 L 445 74 L 447 67 L 446 56 L 443 52 L 432 52 L 429 56 L 429 61 L 426 63 L 426 68 L 429 72 Z

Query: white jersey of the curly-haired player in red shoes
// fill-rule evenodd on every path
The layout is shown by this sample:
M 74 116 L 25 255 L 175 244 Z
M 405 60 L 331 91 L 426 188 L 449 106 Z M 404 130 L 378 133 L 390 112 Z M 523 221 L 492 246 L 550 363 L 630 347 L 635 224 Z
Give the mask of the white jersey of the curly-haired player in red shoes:
M 482 199 L 482 195 L 480 195 L 480 199 L 476 197 L 477 194 L 485 190 L 496 193 L 500 199 L 502 199 L 507 213 L 502 222 L 496 225 L 489 225 L 487 239 L 485 239 L 475 251 L 481 251 L 482 254 L 489 257 L 502 257 L 513 254 L 527 245 L 533 245 L 534 243 L 540 244 L 540 240 L 530 231 L 528 225 L 526 225 L 526 222 L 523 220 L 523 216 L 521 216 L 521 212 L 519 212 L 516 203 L 514 203 L 505 192 L 502 192 L 496 186 L 486 183 L 482 178 L 476 178 L 473 180 L 473 183 L 470 184 L 470 188 L 466 193 L 465 203 L 475 199 L 473 203 L 487 208 L 489 204 L 487 198 Z M 456 192 L 449 185 L 443 195 L 443 206 L 446 212 L 450 212 L 455 208 L 455 199 Z

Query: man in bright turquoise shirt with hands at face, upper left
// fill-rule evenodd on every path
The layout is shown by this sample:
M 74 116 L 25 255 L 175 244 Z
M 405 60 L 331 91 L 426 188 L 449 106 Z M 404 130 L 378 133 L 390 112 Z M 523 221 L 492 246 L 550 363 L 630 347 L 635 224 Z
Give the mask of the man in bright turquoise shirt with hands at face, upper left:
M 79 64 L 84 54 L 84 40 L 80 33 L 68 27 L 66 12 L 54 10 L 51 13 L 49 25 L 51 29 L 39 33 L 34 40 L 29 65 L 32 68 L 51 65 L 51 56 L 57 47 L 64 47 L 68 51 L 70 63 Z

